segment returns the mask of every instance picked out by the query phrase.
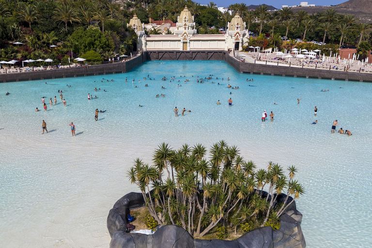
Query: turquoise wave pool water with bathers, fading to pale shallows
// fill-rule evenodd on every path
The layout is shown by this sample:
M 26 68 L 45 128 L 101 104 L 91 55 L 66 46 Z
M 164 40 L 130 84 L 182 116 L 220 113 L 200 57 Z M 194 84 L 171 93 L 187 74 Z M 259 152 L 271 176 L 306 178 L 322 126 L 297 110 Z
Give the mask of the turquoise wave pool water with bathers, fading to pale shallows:
M 144 80 L 148 74 L 155 80 Z M 213 80 L 196 83 L 197 76 L 212 74 Z M 167 81 L 160 80 L 164 76 Z M 186 78 L 190 81 L 184 83 Z M 200 61 L 146 62 L 126 74 L 47 83 L 0 84 L 2 246 L 109 247 L 109 209 L 138 190 L 126 177 L 135 158 L 151 163 L 163 141 L 175 148 L 185 142 L 210 147 L 223 139 L 259 167 L 269 160 L 298 167 L 306 195 L 297 208 L 309 248 L 354 248 L 356 242 L 370 247 L 372 84 L 239 74 L 225 62 Z M 228 89 L 229 83 L 239 90 Z M 95 87 L 101 90 L 94 92 Z M 64 91 L 67 107 L 58 90 Z M 98 98 L 88 100 L 88 93 Z M 155 97 L 161 93 L 165 97 Z M 57 105 L 50 106 L 54 96 Z M 174 107 L 191 112 L 176 118 Z M 107 111 L 95 122 L 97 108 Z M 274 122 L 261 122 L 264 109 L 276 114 Z M 336 119 L 353 135 L 331 134 Z M 41 134 L 42 120 L 48 134 Z M 315 120 L 318 124 L 311 125 Z

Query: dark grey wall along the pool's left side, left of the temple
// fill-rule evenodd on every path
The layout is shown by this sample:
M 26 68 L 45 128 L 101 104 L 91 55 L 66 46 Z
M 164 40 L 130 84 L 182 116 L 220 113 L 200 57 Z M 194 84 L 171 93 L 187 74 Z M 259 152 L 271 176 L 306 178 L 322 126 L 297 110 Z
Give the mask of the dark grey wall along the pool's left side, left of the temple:
M 90 65 L 88 68 L 84 66 L 70 67 L 62 69 L 42 70 L 33 72 L 21 73 L 7 73 L 0 75 L 0 82 L 13 82 L 13 81 L 28 81 L 40 79 L 54 79 L 54 78 L 71 78 L 83 77 L 94 75 L 106 75 L 115 73 L 125 73 L 140 65 L 145 61 L 143 53 L 126 62 L 116 62 L 108 64 Z

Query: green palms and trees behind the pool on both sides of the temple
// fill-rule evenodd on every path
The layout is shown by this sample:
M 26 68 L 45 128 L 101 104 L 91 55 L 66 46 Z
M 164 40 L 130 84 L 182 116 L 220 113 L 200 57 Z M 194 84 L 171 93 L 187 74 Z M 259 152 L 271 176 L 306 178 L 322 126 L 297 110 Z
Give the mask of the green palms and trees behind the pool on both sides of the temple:
M 129 54 L 136 49 L 137 35 L 126 24 L 135 13 L 143 23 L 150 18 L 176 22 L 185 6 L 195 16 L 200 34 L 219 33 L 218 28 L 226 29 L 233 17 L 219 12 L 213 2 L 201 6 L 191 0 L 0 0 L 0 60 L 50 58 L 66 63 L 69 57 L 80 56 L 100 62 L 118 53 Z M 249 31 L 259 34 L 251 39 L 250 46 L 318 48 L 292 41 L 300 38 L 328 43 L 321 47 L 326 48 L 325 54 L 341 45 L 358 47 L 360 59 L 371 49 L 370 24 L 359 23 L 353 15 L 339 15 L 333 9 L 308 15 L 291 8 L 269 12 L 266 5 L 249 10 L 245 3 L 229 8 L 233 15 L 238 12 L 243 17 Z M 216 28 L 208 28 L 212 26 Z M 146 32 L 159 33 L 155 29 Z M 283 42 L 282 36 L 288 42 Z M 11 46 L 9 42 L 14 41 L 24 45 Z M 52 49 L 50 45 L 55 44 L 62 46 Z

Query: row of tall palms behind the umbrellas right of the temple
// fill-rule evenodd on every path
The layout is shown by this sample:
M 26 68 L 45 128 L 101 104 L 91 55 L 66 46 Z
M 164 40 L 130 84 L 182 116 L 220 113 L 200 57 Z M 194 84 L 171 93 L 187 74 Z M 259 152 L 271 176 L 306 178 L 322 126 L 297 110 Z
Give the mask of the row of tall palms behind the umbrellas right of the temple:
M 300 38 L 305 41 L 310 37 L 323 43 L 326 39 L 330 42 L 340 41 L 339 46 L 345 42 L 357 45 L 362 40 L 369 41 L 372 30 L 371 24 L 359 23 L 354 15 L 340 15 L 335 9 L 312 15 L 304 10 L 294 12 L 291 7 L 283 7 L 270 14 L 268 6 L 264 4 L 259 5 L 256 10 L 248 10 L 244 3 L 232 4 L 230 9 L 239 13 L 248 23 L 248 31 L 253 22 L 257 33 L 268 32 L 272 37 L 277 32 L 285 37 L 285 41 L 290 33 L 292 39 Z

